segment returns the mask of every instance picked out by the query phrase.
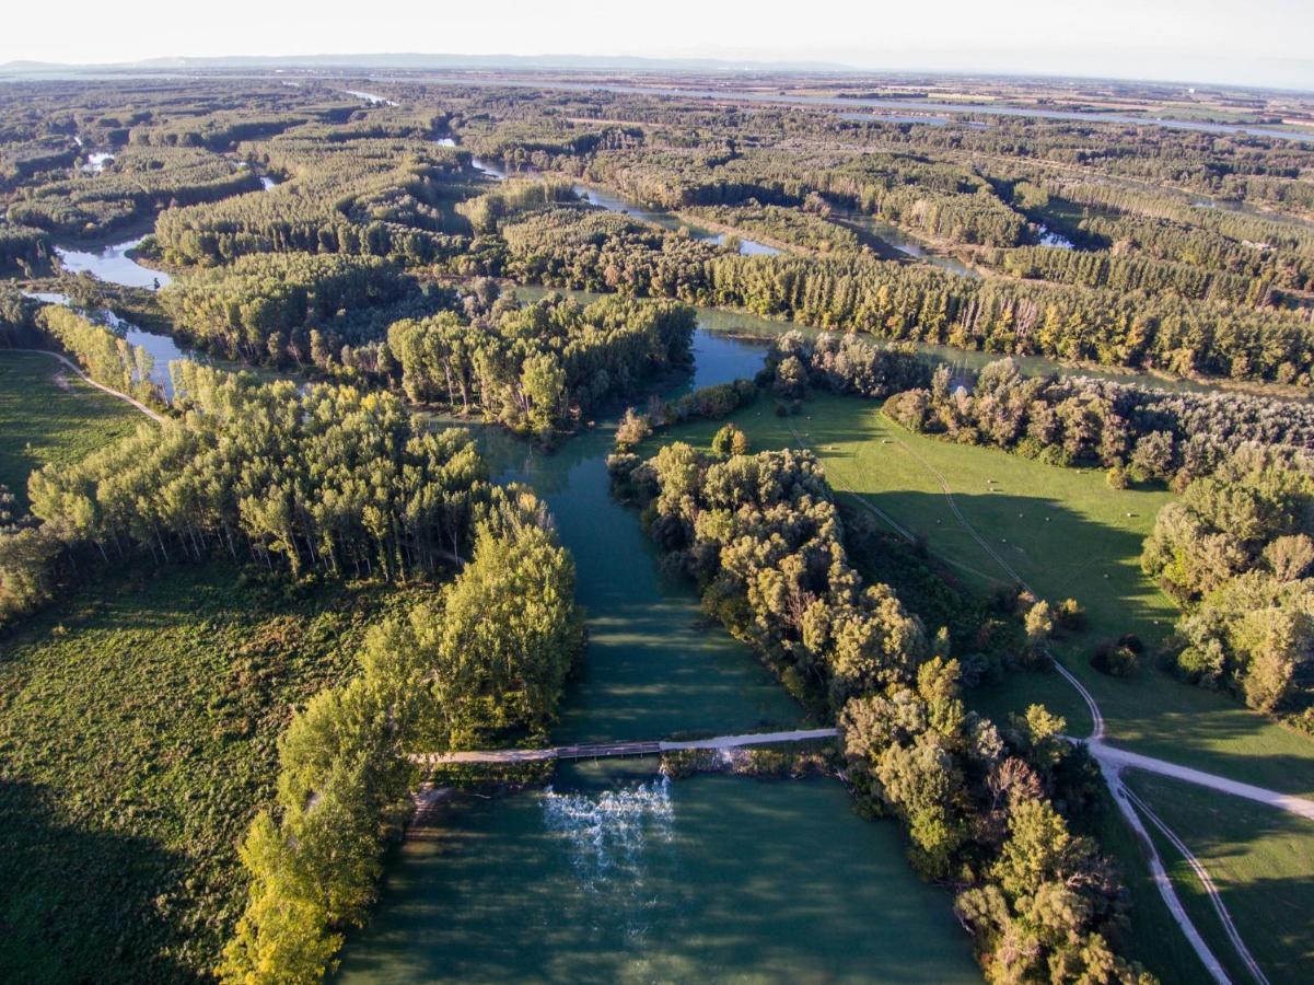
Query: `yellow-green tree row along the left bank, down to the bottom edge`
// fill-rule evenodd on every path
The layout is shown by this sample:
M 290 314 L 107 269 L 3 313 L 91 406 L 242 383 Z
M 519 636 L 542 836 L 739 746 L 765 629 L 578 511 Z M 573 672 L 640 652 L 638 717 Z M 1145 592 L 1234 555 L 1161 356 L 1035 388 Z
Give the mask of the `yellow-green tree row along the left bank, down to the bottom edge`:
M 456 579 L 376 627 L 360 675 L 317 694 L 280 739 L 277 802 L 242 843 L 251 885 L 219 978 L 321 981 L 411 810 L 406 755 L 541 734 L 582 646 L 570 554 L 532 493 L 495 489 Z

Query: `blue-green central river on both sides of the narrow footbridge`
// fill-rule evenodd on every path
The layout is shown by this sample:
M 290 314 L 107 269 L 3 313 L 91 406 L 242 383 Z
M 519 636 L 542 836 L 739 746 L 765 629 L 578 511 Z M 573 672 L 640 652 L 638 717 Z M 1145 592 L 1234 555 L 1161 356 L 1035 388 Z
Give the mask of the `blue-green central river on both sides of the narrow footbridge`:
M 696 370 L 669 392 L 750 376 L 762 354 L 699 329 Z M 576 558 L 589 647 L 553 740 L 800 723 L 611 498 L 614 427 L 555 454 L 477 429 L 494 473 L 533 485 Z M 858 818 L 834 780 L 668 782 L 656 759 L 610 760 L 562 767 L 549 789 L 452 800 L 432 836 L 389 859 L 338 977 L 978 981 L 951 902 L 913 876 L 897 825 Z

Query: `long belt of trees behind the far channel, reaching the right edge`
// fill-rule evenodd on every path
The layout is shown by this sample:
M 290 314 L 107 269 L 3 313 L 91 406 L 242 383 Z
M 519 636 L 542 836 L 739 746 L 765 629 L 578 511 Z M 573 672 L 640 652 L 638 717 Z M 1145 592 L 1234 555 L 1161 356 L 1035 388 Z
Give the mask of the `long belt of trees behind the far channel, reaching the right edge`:
M 1306 384 L 1309 313 L 1171 293 L 957 277 L 874 259 L 737 256 L 615 214 L 553 209 L 502 230 L 480 272 L 744 308 L 820 329 L 1179 375 Z

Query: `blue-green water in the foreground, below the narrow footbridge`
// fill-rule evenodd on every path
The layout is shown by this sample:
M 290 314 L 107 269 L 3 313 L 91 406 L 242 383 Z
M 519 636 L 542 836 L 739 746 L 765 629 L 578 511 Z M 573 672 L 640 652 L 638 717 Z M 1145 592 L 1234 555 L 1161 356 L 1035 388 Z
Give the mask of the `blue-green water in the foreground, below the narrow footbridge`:
M 338 980 L 980 981 L 950 894 L 838 782 L 566 772 L 406 843 Z

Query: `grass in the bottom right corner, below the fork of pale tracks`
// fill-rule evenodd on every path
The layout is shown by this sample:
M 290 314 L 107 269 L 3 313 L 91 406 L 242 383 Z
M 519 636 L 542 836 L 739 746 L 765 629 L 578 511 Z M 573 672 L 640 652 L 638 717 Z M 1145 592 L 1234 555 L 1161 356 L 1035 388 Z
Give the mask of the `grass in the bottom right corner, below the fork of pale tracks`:
M 1314 823 L 1168 777 L 1131 772 L 1127 782 L 1209 872 L 1269 980 L 1314 980 Z M 1208 934 L 1235 981 L 1248 981 L 1194 873 L 1166 839 L 1152 834 L 1192 921 Z

